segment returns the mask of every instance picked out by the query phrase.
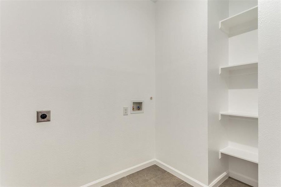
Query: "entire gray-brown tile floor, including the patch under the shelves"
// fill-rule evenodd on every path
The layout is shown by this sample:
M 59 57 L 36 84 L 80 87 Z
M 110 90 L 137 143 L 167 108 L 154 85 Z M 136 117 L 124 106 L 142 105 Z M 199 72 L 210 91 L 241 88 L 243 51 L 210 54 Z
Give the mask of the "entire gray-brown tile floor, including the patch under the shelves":
M 225 180 L 220 187 L 249 187 L 233 178 Z M 149 166 L 143 170 L 139 170 L 131 175 L 127 175 L 121 179 L 102 187 L 192 187 L 190 184 L 177 178 L 175 175 L 163 170 L 157 165 Z

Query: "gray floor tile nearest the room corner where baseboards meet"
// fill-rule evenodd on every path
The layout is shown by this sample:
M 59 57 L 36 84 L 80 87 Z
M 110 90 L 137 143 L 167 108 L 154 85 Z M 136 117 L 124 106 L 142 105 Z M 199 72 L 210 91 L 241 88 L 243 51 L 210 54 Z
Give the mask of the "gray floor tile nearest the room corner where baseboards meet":
M 155 177 L 166 173 L 166 170 L 163 170 L 157 165 L 149 166 L 143 170 L 139 170 L 131 175 L 126 176 L 134 185 L 141 185 L 149 180 L 154 179 Z

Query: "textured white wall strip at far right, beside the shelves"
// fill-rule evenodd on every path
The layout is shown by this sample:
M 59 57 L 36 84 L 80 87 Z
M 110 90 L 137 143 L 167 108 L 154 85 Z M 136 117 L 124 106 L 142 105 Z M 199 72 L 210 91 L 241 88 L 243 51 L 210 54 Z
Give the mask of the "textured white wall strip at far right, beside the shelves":
M 260 187 L 281 186 L 280 10 L 280 1 L 259 1 Z

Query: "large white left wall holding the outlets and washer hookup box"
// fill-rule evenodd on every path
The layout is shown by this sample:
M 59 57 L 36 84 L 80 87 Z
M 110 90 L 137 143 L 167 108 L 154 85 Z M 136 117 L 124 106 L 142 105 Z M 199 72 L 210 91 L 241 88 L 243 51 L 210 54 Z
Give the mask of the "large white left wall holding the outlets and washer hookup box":
M 154 60 L 153 2 L 1 1 L 1 186 L 81 186 L 153 159 Z M 145 113 L 123 116 L 130 99 Z

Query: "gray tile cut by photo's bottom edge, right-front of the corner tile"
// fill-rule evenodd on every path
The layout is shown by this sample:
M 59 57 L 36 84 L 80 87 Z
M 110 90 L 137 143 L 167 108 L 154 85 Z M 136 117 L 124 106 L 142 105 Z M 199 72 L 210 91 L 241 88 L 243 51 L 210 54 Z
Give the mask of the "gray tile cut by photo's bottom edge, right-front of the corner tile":
M 183 182 L 183 180 L 167 172 L 159 177 L 154 178 L 153 180 L 139 185 L 139 187 L 177 187 Z

